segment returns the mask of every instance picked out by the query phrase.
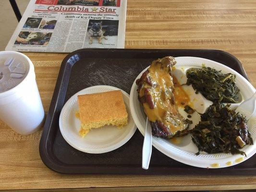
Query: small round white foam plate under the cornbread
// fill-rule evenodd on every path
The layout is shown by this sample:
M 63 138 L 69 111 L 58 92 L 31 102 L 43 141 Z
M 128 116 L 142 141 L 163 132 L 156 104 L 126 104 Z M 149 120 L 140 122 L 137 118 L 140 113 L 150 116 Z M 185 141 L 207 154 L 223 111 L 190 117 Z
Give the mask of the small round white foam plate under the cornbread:
M 88 87 L 73 95 L 66 102 L 61 110 L 59 125 L 61 134 L 68 144 L 79 151 L 99 154 L 115 150 L 130 140 L 137 128 L 131 116 L 129 95 L 122 90 L 122 97 L 128 113 L 128 124 L 121 129 L 111 125 L 92 129 L 84 138 L 78 134 L 80 120 L 75 117 L 75 112 L 78 111 L 77 96 L 113 90 L 120 89 L 107 85 Z

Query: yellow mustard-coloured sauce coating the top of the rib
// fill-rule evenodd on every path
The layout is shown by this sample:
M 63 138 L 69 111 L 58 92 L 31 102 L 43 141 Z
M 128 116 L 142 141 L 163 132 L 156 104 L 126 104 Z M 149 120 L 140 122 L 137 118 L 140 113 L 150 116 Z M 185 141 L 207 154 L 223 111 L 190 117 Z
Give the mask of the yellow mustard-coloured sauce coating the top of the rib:
M 161 60 L 162 63 L 164 61 Z M 147 76 L 150 78 L 152 86 L 144 84 L 144 87 L 140 89 L 139 93 L 139 96 L 143 97 L 145 88 L 147 88 L 149 95 L 153 98 L 154 108 L 150 108 L 148 103 L 143 103 L 148 120 L 152 122 L 156 120 L 163 122 L 172 133 L 183 130 L 183 118 L 175 106 L 173 95 L 174 86 L 169 73 L 171 71 L 171 65 L 161 65 L 157 61 L 154 61 L 148 68 L 148 71 Z M 178 102 L 181 100 L 178 99 Z

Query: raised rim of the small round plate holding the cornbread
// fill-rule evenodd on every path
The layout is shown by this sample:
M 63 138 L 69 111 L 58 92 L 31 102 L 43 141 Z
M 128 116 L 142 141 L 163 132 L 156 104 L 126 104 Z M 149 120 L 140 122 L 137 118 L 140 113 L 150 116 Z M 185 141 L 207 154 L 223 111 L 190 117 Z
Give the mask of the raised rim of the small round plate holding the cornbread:
M 110 152 L 110 151 L 113 151 L 115 149 L 118 149 L 120 148 L 122 145 L 126 144 L 131 138 L 132 136 L 134 135 L 135 131 L 137 130 L 137 127 L 136 127 L 136 124 L 134 122 L 134 119 L 132 118 L 132 114 L 129 114 L 131 116 L 130 120 L 133 121 L 133 125 L 131 126 L 130 128 L 130 132 L 128 132 L 129 134 L 127 134 L 122 140 L 120 140 L 118 143 L 115 143 L 111 146 L 108 146 L 108 147 L 105 147 L 105 148 L 100 148 L 100 149 L 92 149 L 92 150 L 88 150 L 88 149 L 85 149 L 83 147 L 80 147 L 80 146 L 77 146 L 76 144 L 73 144 L 69 138 L 65 135 L 65 132 L 64 132 L 64 128 L 63 128 L 63 113 L 65 111 L 65 108 L 67 108 L 67 106 L 73 101 L 73 99 L 75 97 L 77 97 L 77 95 L 79 95 L 80 93 L 82 92 L 85 92 L 86 90 L 91 90 L 91 89 L 97 89 L 97 88 L 109 88 L 111 90 L 121 90 L 122 92 L 122 95 L 126 96 L 129 100 L 129 103 L 130 103 L 130 95 L 128 93 L 126 93 L 125 91 L 123 91 L 122 89 L 120 88 L 117 88 L 117 87 L 114 87 L 114 86 L 110 86 L 110 85 L 95 85 L 95 86 L 90 86 L 90 87 L 86 87 L 80 91 L 78 91 L 77 93 L 75 93 L 73 96 L 71 96 L 67 102 L 64 104 L 64 106 L 62 107 L 61 109 L 61 113 L 60 113 L 60 117 L 59 117 L 59 129 L 61 131 L 61 135 L 62 137 L 64 138 L 64 140 L 70 144 L 73 148 L 79 150 L 79 151 L 82 151 L 82 152 L 85 152 L 85 153 L 89 153 L 89 154 L 102 154 L 102 153 L 107 153 L 107 152 Z M 100 93 L 100 92 L 98 92 Z M 76 100 L 77 102 L 77 100 Z M 76 103 L 74 102 L 73 105 Z M 127 103 L 127 105 L 130 107 L 129 103 Z M 130 109 L 131 110 L 131 109 Z M 129 112 L 129 111 L 128 111 Z M 69 128 L 68 128 L 69 129 Z M 114 147 L 113 147 L 114 146 Z

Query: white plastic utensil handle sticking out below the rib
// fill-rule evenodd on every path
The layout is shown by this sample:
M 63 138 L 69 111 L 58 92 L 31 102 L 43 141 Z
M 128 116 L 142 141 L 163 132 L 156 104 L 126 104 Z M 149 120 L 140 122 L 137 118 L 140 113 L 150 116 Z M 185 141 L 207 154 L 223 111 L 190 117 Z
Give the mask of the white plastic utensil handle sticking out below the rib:
M 148 169 L 152 154 L 152 131 L 151 126 L 148 126 L 148 119 L 146 118 L 146 130 L 142 148 L 142 168 Z

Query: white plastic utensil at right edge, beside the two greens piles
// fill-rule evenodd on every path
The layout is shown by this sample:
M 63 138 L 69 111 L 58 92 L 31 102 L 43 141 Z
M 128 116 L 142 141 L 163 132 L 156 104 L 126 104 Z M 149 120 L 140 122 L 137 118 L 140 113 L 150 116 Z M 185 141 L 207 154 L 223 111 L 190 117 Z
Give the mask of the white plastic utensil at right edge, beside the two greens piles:
M 236 112 L 243 114 L 247 120 L 255 113 L 256 111 L 256 92 L 249 99 L 242 102 L 236 109 Z

